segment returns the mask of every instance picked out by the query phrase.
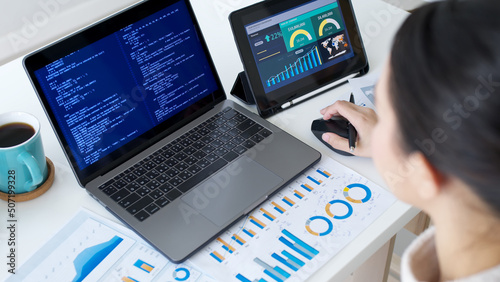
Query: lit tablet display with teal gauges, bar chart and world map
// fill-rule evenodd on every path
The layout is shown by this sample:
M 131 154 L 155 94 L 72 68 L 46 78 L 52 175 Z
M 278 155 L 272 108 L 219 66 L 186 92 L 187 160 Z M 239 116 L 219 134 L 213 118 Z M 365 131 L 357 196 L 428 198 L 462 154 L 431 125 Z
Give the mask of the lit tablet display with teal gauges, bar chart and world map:
M 245 30 L 266 93 L 354 56 L 336 0 L 311 1 Z

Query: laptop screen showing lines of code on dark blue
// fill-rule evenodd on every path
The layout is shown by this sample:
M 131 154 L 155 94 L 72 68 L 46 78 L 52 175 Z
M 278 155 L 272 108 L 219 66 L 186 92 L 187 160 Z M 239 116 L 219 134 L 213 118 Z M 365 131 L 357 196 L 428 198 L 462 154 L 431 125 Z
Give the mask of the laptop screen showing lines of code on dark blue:
M 34 84 L 82 175 L 177 129 L 220 91 L 191 8 L 149 2 L 42 50 L 44 63 L 36 60 Z

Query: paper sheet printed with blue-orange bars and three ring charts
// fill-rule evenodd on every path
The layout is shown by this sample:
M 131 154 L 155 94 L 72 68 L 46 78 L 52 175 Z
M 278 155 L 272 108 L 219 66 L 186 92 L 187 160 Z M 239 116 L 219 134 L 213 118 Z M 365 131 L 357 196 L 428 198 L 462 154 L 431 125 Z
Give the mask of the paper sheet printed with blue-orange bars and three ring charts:
M 304 280 L 394 201 L 378 185 L 323 159 L 191 261 L 223 281 Z

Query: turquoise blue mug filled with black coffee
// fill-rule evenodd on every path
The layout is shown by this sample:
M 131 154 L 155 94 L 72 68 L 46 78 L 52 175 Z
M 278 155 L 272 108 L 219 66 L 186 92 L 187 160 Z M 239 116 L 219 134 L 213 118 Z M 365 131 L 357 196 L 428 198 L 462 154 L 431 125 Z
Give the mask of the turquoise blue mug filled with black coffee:
M 0 191 L 31 192 L 42 185 L 47 176 L 38 119 L 23 112 L 0 114 Z

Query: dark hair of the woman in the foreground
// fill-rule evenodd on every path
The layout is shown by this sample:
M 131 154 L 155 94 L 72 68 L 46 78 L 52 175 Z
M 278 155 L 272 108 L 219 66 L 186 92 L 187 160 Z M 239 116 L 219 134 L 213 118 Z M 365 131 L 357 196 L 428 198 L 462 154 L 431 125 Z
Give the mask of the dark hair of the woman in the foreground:
M 417 9 L 396 34 L 390 66 L 404 151 L 424 153 L 500 216 L 500 3 Z

